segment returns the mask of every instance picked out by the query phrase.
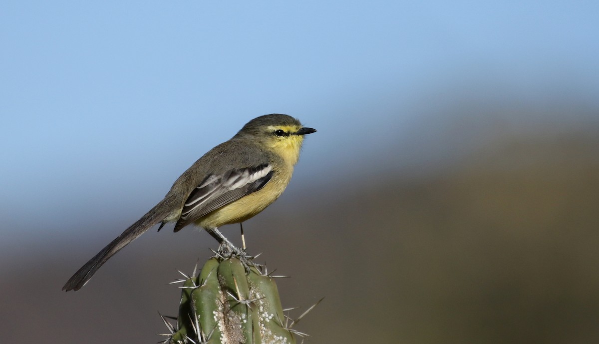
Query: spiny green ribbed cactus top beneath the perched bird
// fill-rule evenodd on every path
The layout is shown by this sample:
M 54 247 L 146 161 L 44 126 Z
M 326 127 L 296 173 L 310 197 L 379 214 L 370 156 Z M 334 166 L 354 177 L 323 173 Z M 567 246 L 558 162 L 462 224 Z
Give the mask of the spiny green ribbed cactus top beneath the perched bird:
M 237 344 L 295 343 L 305 334 L 283 315 L 273 277 L 237 258 L 213 257 L 195 276 L 186 276 L 176 326 L 170 325 L 165 343 Z M 185 275 L 184 275 L 185 276 Z

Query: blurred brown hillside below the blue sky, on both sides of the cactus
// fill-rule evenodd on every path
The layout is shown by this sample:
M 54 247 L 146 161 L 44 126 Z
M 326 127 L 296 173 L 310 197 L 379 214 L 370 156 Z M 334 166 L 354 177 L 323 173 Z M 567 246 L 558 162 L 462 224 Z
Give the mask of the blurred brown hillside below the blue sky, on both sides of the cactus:
M 430 176 L 284 197 L 244 226 L 250 248 L 292 276 L 279 282 L 284 307 L 325 297 L 298 325 L 307 343 L 599 342 L 599 129 L 473 151 Z M 95 246 L 5 276 L 3 341 L 158 342 L 156 310 L 179 301 L 174 269 L 208 257 L 198 241 L 214 246 L 167 234 L 147 234 L 77 293 L 60 286 Z

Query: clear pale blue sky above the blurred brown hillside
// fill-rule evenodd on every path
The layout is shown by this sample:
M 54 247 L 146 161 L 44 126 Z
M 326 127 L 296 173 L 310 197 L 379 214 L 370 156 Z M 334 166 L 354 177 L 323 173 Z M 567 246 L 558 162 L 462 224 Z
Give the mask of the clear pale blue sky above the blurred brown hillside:
M 3 1 L 2 232 L 141 215 L 265 113 L 319 129 L 305 185 L 393 159 L 373 152 L 456 94 L 597 105 L 597 18 L 592 1 Z

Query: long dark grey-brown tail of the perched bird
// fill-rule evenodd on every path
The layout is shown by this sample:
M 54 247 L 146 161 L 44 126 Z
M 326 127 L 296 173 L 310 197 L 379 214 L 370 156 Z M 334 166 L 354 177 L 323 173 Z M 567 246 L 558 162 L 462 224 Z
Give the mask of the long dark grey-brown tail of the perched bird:
M 156 204 L 146 215 L 142 216 L 141 219 L 137 220 L 135 224 L 132 224 L 127 228 L 119 237 L 114 239 L 108 244 L 102 251 L 98 252 L 92 259 L 83 265 L 69 280 L 66 282 L 62 290 L 79 290 L 87 281 L 92 278 L 93 274 L 104 264 L 108 258 L 112 257 L 120 249 L 124 248 L 128 243 L 137 239 L 137 237 L 144 234 L 147 230 L 152 228 L 153 225 L 164 220 L 170 215 L 176 207 L 175 197 L 167 195 L 164 200 Z

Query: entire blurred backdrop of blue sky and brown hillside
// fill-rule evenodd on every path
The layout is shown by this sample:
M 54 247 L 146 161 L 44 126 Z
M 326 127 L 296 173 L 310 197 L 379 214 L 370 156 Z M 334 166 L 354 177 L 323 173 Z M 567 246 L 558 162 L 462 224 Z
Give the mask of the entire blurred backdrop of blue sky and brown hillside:
M 216 248 L 149 231 L 249 119 L 318 129 L 244 223 L 307 343 L 599 341 L 599 4 L 3 1 L 0 336 L 161 340 Z M 238 227 L 223 233 L 239 243 Z

